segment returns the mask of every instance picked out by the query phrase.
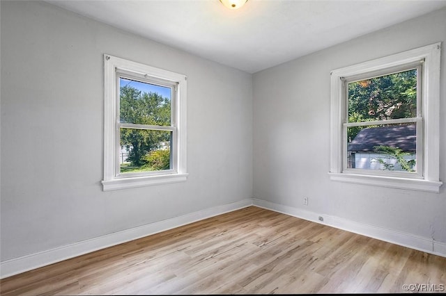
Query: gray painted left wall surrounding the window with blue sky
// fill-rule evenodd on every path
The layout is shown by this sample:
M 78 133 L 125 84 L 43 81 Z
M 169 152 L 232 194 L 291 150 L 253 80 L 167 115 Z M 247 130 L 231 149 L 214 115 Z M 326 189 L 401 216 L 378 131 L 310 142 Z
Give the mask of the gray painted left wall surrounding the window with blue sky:
M 102 192 L 105 53 L 187 75 L 186 182 Z M 251 197 L 251 74 L 1 1 L 1 261 Z

